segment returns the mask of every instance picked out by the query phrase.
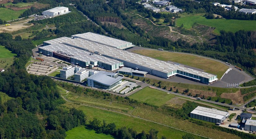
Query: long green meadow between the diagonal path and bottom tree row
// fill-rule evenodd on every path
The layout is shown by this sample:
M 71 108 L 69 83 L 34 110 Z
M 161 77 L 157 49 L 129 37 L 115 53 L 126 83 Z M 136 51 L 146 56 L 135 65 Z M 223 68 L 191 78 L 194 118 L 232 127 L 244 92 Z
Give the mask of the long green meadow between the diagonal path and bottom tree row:
M 133 128 L 137 132 L 141 132 L 142 130 L 148 132 L 151 128 L 154 128 L 159 131 L 158 137 L 165 136 L 167 138 L 172 139 L 181 139 L 186 132 L 182 132 L 173 128 L 168 128 L 156 123 L 144 121 L 142 119 L 133 118 L 130 116 L 126 116 L 123 114 L 100 110 L 97 108 L 80 106 L 78 110 L 83 110 L 83 112 L 88 116 L 89 120 L 92 120 L 94 117 L 100 119 L 101 121 L 104 119 L 107 123 L 115 123 L 117 128 L 126 126 L 127 128 Z M 195 137 L 200 138 L 200 137 Z

